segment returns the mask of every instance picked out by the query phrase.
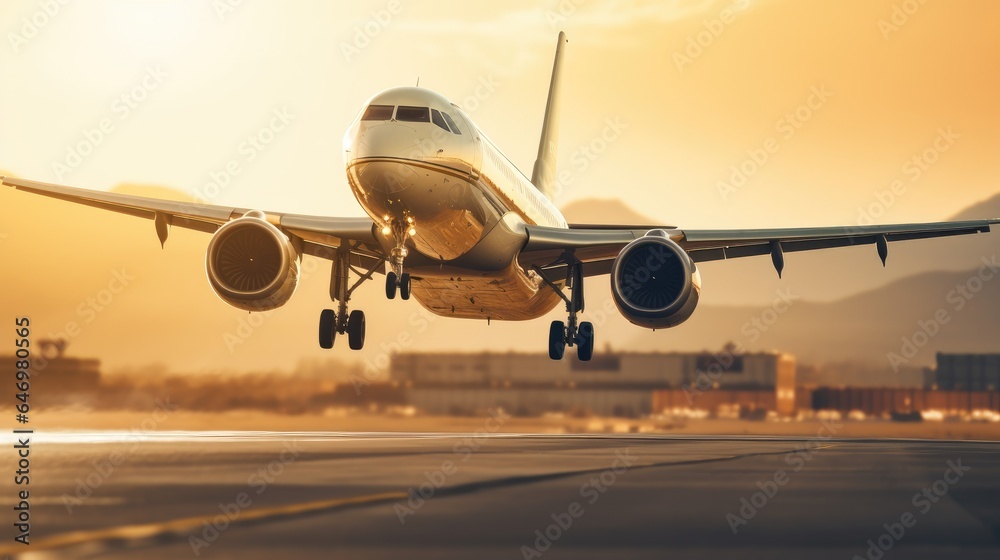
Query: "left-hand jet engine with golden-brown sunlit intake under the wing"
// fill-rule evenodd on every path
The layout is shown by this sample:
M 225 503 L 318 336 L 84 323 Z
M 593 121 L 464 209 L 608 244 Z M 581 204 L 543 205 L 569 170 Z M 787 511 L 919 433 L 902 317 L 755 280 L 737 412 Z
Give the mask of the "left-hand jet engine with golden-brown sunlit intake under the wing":
M 262 212 L 226 223 L 208 243 L 208 281 L 223 301 L 246 311 L 288 302 L 299 283 L 299 251 Z

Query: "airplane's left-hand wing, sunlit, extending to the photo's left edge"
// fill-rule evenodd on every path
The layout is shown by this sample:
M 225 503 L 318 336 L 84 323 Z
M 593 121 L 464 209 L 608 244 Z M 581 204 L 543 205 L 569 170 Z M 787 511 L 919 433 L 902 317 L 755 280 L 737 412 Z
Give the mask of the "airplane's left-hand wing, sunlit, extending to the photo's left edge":
M 226 222 L 251 210 L 77 189 L 10 177 L 0 177 L 0 185 L 153 220 L 161 243 L 166 240 L 168 226 L 214 233 Z M 301 239 L 306 254 L 332 259 L 334 250 L 347 244 L 357 264 L 371 267 L 382 258 L 383 251 L 375 237 L 375 224 L 369 218 L 327 218 L 280 212 L 265 212 L 265 215 L 269 222 Z

